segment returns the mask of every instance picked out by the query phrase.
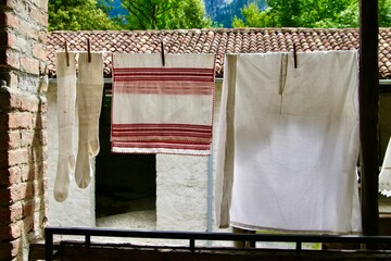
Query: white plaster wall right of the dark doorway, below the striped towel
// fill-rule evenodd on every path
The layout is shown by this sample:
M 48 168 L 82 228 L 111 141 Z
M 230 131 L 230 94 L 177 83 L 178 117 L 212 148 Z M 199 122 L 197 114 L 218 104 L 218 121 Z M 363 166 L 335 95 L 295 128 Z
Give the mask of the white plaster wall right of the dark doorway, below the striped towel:
M 216 147 L 218 133 L 220 91 L 222 83 L 216 83 L 213 147 Z M 213 153 L 213 162 L 215 154 Z M 209 157 L 156 156 L 157 231 L 207 229 L 209 160 Z M 214 217 L 214 214 L 211 216 Z

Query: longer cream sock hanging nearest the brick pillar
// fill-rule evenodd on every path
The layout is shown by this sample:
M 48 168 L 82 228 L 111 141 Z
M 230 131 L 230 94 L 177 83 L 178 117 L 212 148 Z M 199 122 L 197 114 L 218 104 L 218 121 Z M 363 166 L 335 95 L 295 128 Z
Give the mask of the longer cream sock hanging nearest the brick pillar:
M 59 159 L 54 181 L 54 199 L 64 201 L 70 190 L 70 179 L 75 170 L 73 151 L 73 130 L 76 107 L 76 53 L 68 52 L 66 64 L 65 52 L 56 53 L 58 75 L 58 126 L 59 126 Z

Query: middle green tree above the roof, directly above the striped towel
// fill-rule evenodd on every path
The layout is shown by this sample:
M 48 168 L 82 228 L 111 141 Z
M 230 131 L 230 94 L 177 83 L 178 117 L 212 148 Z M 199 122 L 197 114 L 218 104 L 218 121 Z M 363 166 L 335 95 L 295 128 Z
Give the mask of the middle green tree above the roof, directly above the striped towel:
M 129 29 L 211 27 L 202 0 L 123 0 Z

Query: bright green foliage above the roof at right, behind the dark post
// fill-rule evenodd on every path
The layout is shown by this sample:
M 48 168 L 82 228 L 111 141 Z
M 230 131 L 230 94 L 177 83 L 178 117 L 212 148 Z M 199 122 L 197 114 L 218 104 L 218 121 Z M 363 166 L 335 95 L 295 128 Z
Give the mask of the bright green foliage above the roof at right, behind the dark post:
M 268 0 L 267 9 L 254 4 L 242 9 L 234 27 L 328 27 L 358 26 L 358 0 Z M 391 25 L 391 0 L 379 0 L 379 25 Z

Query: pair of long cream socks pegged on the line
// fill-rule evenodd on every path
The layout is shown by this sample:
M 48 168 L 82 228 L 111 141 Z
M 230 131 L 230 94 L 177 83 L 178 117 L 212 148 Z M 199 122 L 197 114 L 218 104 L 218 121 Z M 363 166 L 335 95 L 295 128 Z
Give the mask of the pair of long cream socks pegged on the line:
M 99 153 L 99 115 L 103 90 L 103 59 L 101 53 L 79 53 L 76 88 L 76 53 L 58 54 L 58 119 L 59 159 L 54 182 L 54 199 L 68 196 L 72 174 L 78 187 L 86 188 L 92 178 L 91 159 Z M 76 102 L 77 99 L 77 102 Z M 78 114 L 77 158 L 73 150 L 76 104 Z

